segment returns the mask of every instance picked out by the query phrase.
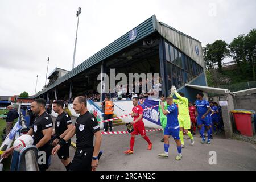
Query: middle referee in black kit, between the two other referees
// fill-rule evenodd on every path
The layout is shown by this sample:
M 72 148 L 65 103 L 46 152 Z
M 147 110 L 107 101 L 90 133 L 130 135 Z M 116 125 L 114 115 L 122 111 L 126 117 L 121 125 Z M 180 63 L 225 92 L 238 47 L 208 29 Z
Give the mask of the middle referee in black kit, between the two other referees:
M 58 117 L 55 121 L 55 130 L 53 131 L 52 135 L 52 146 L 56 146 L 61 139 L 67 135 L 67 133 L 72 130 L 72 121 L 68 113 L 63 110 L 64 102 L 61 100 L 54 101 L 52 104 L 52 109 L 55 113 L 58 114 Z M 69 159 L 69 147 L 71 144 L 71 140 L 68 140 L 68 143 L 65 144 L 63 147 L 60 148 L 58 151 L 58 157 L 61 160 L 61 163 L 65 166 L 67 171 L 70 167 L 70 159 Z

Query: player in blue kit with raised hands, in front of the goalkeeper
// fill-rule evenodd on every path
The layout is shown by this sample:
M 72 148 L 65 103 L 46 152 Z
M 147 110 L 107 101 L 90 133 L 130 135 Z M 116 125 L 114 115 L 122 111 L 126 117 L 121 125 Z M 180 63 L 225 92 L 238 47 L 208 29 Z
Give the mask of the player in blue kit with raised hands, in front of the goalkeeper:
M 169 156 L 168 149 L 169 149 L 169 138 L 172 135 L 174 138 L 176 144 L 177 144 L 177 151 L 178 155 L 176 156 L 176 160 L 180 160 L 182 158 L 181 155 L 181 141 L 180 141 L 180 126 L 179 121 L 177 119 L 178 117 L 178 109 L 177 106 L 174 104 L 174 101 L 172 100 L 172 97 L 166 98 L 167 110 L 164 109 L 164 102 L 161 102 L 161 107 L 163 114 L 167 116 L 167 125 L 164 129 L 164 153 L 158 154 L 161 157 L 167 158 Z

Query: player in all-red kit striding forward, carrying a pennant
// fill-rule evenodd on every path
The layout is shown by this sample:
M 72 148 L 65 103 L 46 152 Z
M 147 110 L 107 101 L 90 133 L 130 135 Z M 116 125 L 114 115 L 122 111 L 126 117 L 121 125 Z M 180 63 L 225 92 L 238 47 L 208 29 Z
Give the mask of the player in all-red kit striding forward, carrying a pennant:
M 150 139 L 146 135 L 146 130 L 144 123 L 142 121 L 143 118 L 143 108 L 138 104 L 139 98 L 134 97 L 133 98 L 133 112 L 131 113 L 131 117 L 133 117 L 133 121 L 131 122 L 133 124 L 134 131 L 131 133 L 131 140 L 130 140 L 130 149 L 127 151 L 124 151 L 124 154 L 133 154 L 133 146 L 135 142 L 135 135 L 140 134 L 144 140 L 147 141 L 148 147 L 147 150 L 152 149 L 152 143 L 150 142 Z

